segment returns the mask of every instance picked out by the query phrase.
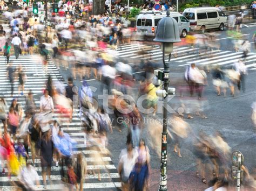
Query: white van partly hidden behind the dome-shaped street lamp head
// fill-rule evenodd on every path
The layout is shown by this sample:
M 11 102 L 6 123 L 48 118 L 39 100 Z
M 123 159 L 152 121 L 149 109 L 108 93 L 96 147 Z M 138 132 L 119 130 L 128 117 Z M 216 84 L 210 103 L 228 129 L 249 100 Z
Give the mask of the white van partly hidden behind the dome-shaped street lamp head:
M 163 17 L 166 17 L 166 12 L 140 12 L 136 21 L 137 32 L 146 34 L 148 36 L 155 36 L 155 32 L 157 31 L 157 24 Z M 187 33 L 190 31 L 190 21 L 178 12 L 171 12 L 170 17 L 177 20 L 180 36 L 186 37 Z

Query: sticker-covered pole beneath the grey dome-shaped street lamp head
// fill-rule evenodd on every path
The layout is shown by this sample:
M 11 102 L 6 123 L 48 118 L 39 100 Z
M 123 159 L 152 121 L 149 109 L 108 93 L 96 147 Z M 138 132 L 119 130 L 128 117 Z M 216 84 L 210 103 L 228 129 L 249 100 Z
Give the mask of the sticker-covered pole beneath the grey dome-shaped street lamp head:
M 169 62 L 165 63 L 165 43 L 163 43 L 163 63 L 164 63 L 164 90 L 168 92 L 169 87 Z M 164 97 L 163 132 L 161 143 L 161 166 L 159 191 L 167 190 L 167 96 Z

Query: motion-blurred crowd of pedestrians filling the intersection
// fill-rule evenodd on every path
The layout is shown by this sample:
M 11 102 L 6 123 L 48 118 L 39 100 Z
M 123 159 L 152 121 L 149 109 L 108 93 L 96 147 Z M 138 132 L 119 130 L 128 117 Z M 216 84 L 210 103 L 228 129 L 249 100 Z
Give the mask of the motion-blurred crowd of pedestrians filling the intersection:
M 152 60 L 146 59 L 141 61 L 139 67 L 119 62 L 117 49 L 122 50 L 124 44 L 134 43 L 134 30 L 125 23 L 125 18 L 118 14 L 127 8 L 116 4 L 112 9 L 116 10 L 113 11 L 116 13 L 115 16 L 111 16 L 107 11 L 95 16 L 90 14 L 91 3 L 59 1 L 58 13 L 49 11 L 50 24 L 46 27 L 44 4 L 41 1 L 37 2 L 40 10 L 37 15 L 31 12 L 31 5 L 23 1 L 18 2 L 22 11 L 9 12 L 7 8 L 4 9 L 3 15 L 8 26 L 0 26 L 0 45 L 8 64 L 6 77 L 11 84 L 11 96 L 14 95 L 14 82 L 17 80 L 18 95 L 26 97 L 26 107 L 22 108 L 18 98 L 14 97 L 8 107 L 4 96 L 0 96 L 0 117 L 4 126 L 0 136 L 1 159 L 6 160 L 6 165 L 2 162 L 2 174 L 8 173 L 9 179 L 11 175 L 18 176 L 19 181 L 15 181 L 18 187 L 33 189 L 34 186 L 39 185 L 39 176 L 35 170 L 35 167 L 38 167 L 36 162 L 38 158 L 42 167 L 44 189 L 48 187 L 46 176 L 51 182 L 53 165 L 61 167 L 62 180 L 68 183 L 71 190 L 74 187 L 83 190 L 87 173 L 97 173 L 98 181 L 102 181 L 100 169 L 94 172 L 86 168 L 84 154 L 74 150 L 77 143 L 63 130 L 62 124 L 65 123 L 69 127 L 72 122 L 76 104 L 79 107 L 79 117 L 85 132 L 86 146 L 105 151 L 110 133 L 115 129 L 118 133 L 127 132 L 126 148 L 121 151 L 118 163 L 122 189 L 145 190 L 150 186 L 150 150 L 146 144 L 147 140 L 142 139 L 142 135 L 146 128 L 144 117 L 155 118 L 158 115 L 156 92 L 160 87 L 153 84 L 152 77 L 156 67 L 153 66 Z M 106 1 L 105 5 L 109 9 L 110 2 Z M 145 2 L 142 9 L 152 9 L 151 2 Z M 164 3 L 161 9 L 175 8 Z M 230 30 L 233 30 L 234 19 L 232 22 L 231 20 L 230 17 Z M 240 22 L 241 18 L 237 20 Z M 237 31 L 240 31 L 241 23 L 237 23 L 237 26 Z M 45 36 L 45 31 L 48 32 L 48 38 Z M 220 49 L 214 34 L 191 37 L 188 36 L 186 41 L 192 47 L 199 47 L 198 54 L 208 54 L 211 58 L 211 54 Z M 207 76 L 210 72 L 217 96 L 223 93 L 226 97 L 227 88 L 230 88 L 231 96 L 235 96 L 236 86 L 239 91 L 245 93 L 247 75 L 245 62 L 250 44 L 247 39 L 236 39 L 235 42 L 237 41 L 240 45 L 235 44 L 234 48 L 236 51 L 242 51 L 243 56 L 232 68 L 224 69 L 211 65 L 203 68 L 197 63 L 189 63 L 183 76 L 184 83 L 177 86 L 180 95 L 179 106 L 184 112 L 179 110 L 178 115 L 173 116 L 175 123 L 170 124 L 168 130 L 173 152 L 179 158 L 183 157 L 184 140 L 192 131 L 190 125 L 185 122 L 184 114 L 188 119 L 193 119 L 194 114 L 207 119 L 204 114 L 207 104 L 204 89 L 208 85 Z M 70 51 L 70 47 L 76 49 Z M 48 78 L 39 107 L 33 100 L 32 91 L 26 93 L 28 91 L 25 88 L 28 78 L 25 74 L 26 69 L 22 65 L 17 68 L 12 66 L 10 61 L 12 54 L 17 60 L 21 54 L 39 56 L 44 75 Z M 67 86 L 52 80 L 48 70 L 49 59 L 55 62 L 57 69 L 62 67 L 70 70 L 72 76 L 69 77 Z M 135 69 L 143 69 L 145 72 L 133 75 Z M 102 105 L 97 107 L 98 100 L 87 82 L 91 79 L 98 80 L 101 89 L 107 90 L 104 99 L 107 100 L 107 108 L 113 110 L 112 116 L 108 114 L 106 107 Z M 77 88 L 73 80 L 81 81 L 82 86 Z M 120 99 L 125 95 L 130 95 L 134 99 L 144 96 L 145 108 L 153 110 L 142 112 L 135 102 Z M 252 120 L 255 124 L 255 104 L 252 108 Z M 59 117 L 53 117 L 55 112 Z M 159 148 L 157 143 L 161 143 L 161 138 L 158 140 L 156 135 L 161 134 L 161 125 L 153 124 L 153 126 L 150 132 L 152 140 L 149 144 L 154 144 L 153 148 Z M 219 187 L 220 185 L 225 187 L 229 172 L 227 160 L 231 152 L 230 146 L 219 132 L 212 136 L 200 133 L 193 138 L 193 150 L 198 167 L 196 176 L 200 176 L 203 183 L 214 178 L 214 181 L 219 183 Z M 93 154 L 92 157 L 94 166 L 102 164 L 103 159 L 100 155 Z M 207 169 L 212 177 L 206 177 Z M 220 169 L 224 170 L 221 184 Z

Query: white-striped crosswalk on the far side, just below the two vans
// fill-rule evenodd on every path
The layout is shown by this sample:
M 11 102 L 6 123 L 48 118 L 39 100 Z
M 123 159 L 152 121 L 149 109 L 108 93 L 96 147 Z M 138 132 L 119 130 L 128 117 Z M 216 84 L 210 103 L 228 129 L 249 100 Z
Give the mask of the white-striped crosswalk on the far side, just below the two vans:
M 133 46 L 133 45 L 130 45 Z M 147 49 L 146 53 L 140 54 L 139 52 L 143 49 Z M 199 48 L 197 47 L 173 47 L 173 54 L 177 54 L 177 57 L 172 56 L 171 62 L 175 63 L 178 67 L 183 67 L 190 65 L 191 63 L 196 63 L 198 66 L 223 66 L 229 67 L 233 63 L 237 62 L 242 58 L 242 52 L 232 52 L 232 51 L 221 51 L 213 50 L 207 52 L 201 52 L 199 54 Z M 149 60 L 162 60 L 161 49 L 159 46 L 144 45 L 143 47 L 137 46 L 137 48 L 130 48 L 129 45 L 126 46 L 125 50 L 117 50 L 117 55 L 121 58 L 132 58 L 132 59 L 149 59 Z M 166 61 L 167 61 L 166 56 Z M 255 70 L 256 67 L 256 54 L 248 53 L 246 58 L 246 68 L 248 70 Z

